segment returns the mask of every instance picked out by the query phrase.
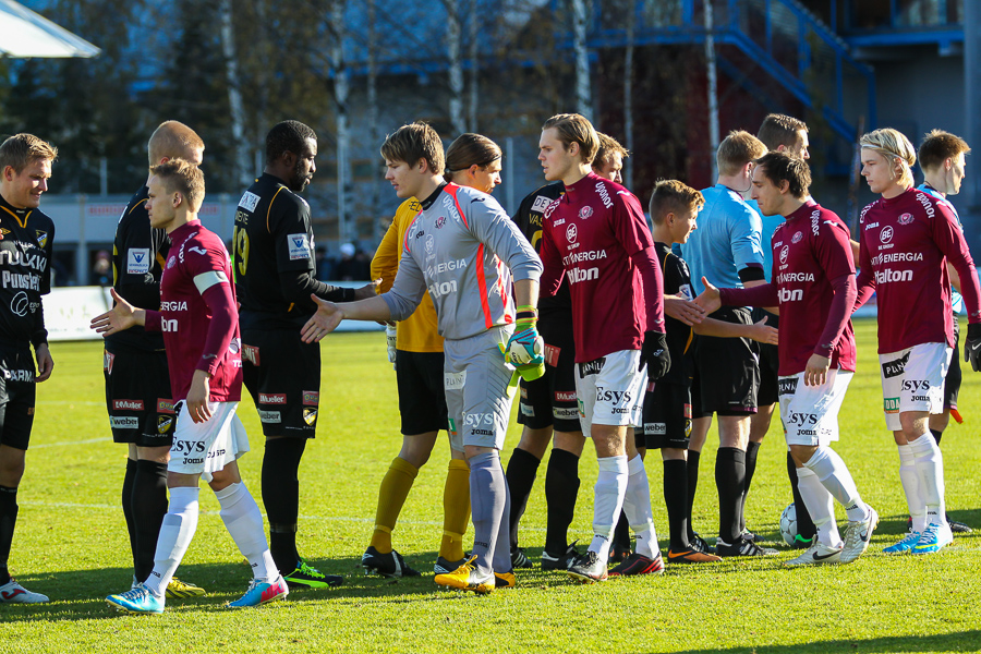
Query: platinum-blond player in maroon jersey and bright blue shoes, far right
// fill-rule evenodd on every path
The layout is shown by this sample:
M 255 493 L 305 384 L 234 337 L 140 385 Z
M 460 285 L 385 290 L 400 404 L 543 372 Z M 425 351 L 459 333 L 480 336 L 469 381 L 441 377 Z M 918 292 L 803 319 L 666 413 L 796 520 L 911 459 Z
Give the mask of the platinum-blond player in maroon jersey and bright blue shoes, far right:
M 899 450 L 899 479 L 912 531 L 888 554 L 938 552 L 953 540 L 944 504 L 944 460 L 930 435 L 931 413 L 943 411 L 943 384 L 954 347 L 950 281 L 960 277 L 968 310 L 965 360 L 981 367 L 978 272 L 957 217 L 946 204 L 912 187 L 917 155 L 900 132 L 885 128 L 861 137 L 862 175 L 882 198 L 862 209 L 856 307 L 874 291 L 886 427 Z M 910 307 L 916 306 L 916 312 Z

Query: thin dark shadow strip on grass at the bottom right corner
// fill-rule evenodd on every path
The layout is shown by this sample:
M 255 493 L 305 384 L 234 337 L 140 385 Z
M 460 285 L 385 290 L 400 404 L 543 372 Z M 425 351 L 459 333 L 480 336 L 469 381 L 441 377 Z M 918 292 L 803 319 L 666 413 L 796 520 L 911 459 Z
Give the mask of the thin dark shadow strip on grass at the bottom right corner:
M 897 635 L 864 640 L 815 641 L 808 644 L 794 645 L 685 650 L 676 654 L 705 654 L 707 652 L 719 652 L 722 654 L 797 654 L 798 652 L 892 654 L 893 652 L 920 652 L 925 654 L 930 652 L 976 651 L 979 642 L 981 642 L 981 631 L 971 630 L 934 635 Z

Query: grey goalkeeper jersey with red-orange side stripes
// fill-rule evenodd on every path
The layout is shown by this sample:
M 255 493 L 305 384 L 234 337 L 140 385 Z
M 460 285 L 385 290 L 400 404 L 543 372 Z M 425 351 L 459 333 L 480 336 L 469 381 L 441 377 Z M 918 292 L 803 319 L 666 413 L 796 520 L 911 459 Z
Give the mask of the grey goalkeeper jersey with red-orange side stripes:
M 395 283 L 382 298 L 395 320 L 412 315 L 426 291 L 437 330 L 460 340 L 514 322 L 516 280 L 542 276 L 542 261 L 497 201 L 446 184 L 422 203 L 405 230 Z

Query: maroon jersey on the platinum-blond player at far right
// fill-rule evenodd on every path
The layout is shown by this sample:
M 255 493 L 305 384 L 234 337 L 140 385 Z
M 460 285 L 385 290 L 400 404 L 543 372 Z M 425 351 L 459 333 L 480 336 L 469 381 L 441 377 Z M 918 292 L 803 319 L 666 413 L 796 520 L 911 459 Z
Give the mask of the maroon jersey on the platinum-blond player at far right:
M 968 319 L 981 322 L 978 271 L 957 225 L 945 203 L 916 189 L 862 209 L 856 306 L 875 291 L 880 354 L 920 343 L 954 347 L 947 259 L 960 275 Z

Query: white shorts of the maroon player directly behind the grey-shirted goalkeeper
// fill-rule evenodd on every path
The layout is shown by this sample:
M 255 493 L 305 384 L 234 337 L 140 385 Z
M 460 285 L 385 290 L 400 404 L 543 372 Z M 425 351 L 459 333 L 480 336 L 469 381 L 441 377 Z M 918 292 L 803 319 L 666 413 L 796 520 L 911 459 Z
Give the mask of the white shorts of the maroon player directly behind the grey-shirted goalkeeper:
M 643 424 L 645 371 L 638 371 L 640 350 L 620 350 L 576 364 L 576 395 L 582 433 L 590 426 Z

